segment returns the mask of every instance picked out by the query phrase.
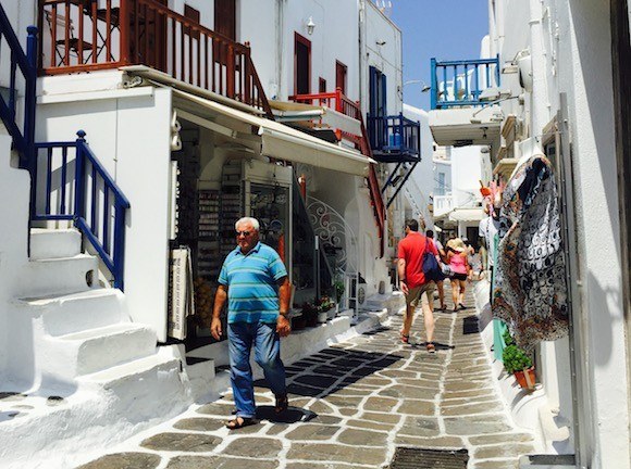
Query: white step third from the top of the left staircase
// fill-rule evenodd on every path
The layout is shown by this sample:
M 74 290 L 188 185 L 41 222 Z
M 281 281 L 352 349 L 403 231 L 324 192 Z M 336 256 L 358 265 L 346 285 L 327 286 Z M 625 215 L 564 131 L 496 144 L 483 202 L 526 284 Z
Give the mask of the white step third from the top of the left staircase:
M 117 289 L 95 289 L 16 300 L 20 314 L 39 319 L 42 332 L 58 337 L 128 321 L 125 297 Z

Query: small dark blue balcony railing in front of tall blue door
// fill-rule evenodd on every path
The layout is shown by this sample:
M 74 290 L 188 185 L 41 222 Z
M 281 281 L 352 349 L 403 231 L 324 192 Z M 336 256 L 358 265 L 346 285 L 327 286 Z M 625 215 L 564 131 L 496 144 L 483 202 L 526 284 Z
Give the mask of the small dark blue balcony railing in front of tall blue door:
M 385 163 L 420 160 L 421 125 L 404 117 L 368 116 L 368 135 L 375 160 Z

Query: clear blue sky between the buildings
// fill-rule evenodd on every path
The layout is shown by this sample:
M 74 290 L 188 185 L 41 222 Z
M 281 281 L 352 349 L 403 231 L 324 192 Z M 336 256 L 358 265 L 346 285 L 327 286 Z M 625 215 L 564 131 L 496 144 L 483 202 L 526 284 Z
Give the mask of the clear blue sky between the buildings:
M 404 40 L 404 83 L 431 85 L 430 59 L 480 56 L 480 41 L 488 33 L 487 0 L 391 0 L 391 20 Z M 404 102 L 430 110 L 430 92 L 421 84 L 404 87 Z

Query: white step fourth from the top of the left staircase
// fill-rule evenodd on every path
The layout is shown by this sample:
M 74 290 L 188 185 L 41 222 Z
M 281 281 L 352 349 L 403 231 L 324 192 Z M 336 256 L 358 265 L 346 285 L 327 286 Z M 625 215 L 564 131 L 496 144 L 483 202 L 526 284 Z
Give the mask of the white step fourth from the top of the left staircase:
M 150 356 L 157 340 L 151 328 L 120 322 L 50 338 L 48 342 L 51 350 L 47 368 L 54 367 L 59 376 L 73 379 Z

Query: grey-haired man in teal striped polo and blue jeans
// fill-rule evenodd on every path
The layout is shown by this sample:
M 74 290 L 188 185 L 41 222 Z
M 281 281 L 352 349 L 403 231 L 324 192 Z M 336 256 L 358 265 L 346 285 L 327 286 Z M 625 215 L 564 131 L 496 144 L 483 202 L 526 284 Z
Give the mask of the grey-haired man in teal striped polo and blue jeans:
M 290 331 L 287 313 L 292 291 L 283 261 L 276 251 L 259 241 L 259 221 L 240 218 L 235 228 L 237 246 L 221 268 L 210 326 L 212 337 L 219 340 L 220 315 L 227 300 L 231 382 L 236 406 L 236 417 L 226 423 L 231 430 L 256 423 L 252 344 L 255 359 L 276 396 L 276 413 L 287 409 L 280 338 Z

